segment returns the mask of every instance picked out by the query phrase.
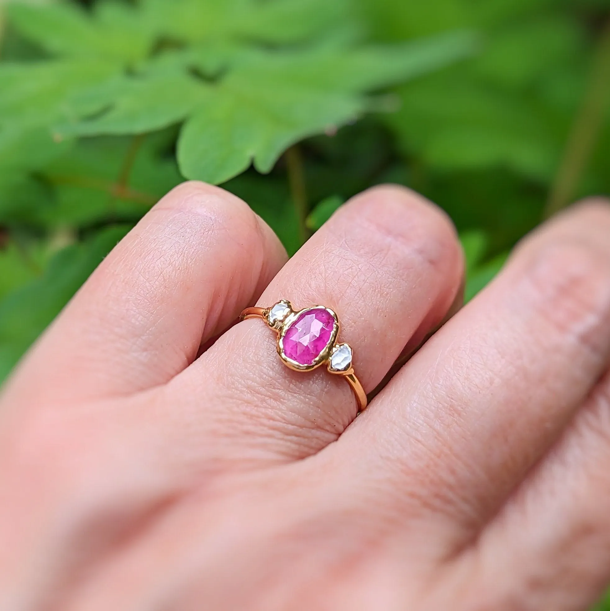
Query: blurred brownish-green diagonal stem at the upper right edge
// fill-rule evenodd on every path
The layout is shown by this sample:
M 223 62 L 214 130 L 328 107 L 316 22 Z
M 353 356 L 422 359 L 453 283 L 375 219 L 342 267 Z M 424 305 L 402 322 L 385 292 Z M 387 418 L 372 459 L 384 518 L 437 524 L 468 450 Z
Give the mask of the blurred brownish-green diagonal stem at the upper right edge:
M 576 114 L 564 153 L 546 203 L 545 218 L 565 208 L 576 195 L 589 159 L 595 150 L 610 101 L 610 23 L 595 52 L 591 75 Z

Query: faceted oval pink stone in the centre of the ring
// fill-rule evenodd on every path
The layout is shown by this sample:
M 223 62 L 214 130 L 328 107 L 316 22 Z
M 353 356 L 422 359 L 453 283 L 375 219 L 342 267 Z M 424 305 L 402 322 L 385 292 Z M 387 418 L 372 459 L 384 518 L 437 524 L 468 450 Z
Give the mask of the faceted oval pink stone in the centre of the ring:
M 326 348 L 335 326 L 327 310 L 306 310 L 288 327 L 283 339 L 284 354 L 300 365 L 313 365 Z

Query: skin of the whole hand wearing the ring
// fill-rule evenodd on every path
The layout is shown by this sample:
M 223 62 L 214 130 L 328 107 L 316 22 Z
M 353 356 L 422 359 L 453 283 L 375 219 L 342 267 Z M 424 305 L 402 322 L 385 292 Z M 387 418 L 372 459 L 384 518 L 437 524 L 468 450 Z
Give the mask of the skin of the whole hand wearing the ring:
M 407 189 L 288 263 L 238 198 L 174 189 L 4 387 L 0 611 L 586 609 L 610 579 L 607 203 L 528 236 L 358 417 L 233 324 L 331 307 L 371 392 L 462 274 Z

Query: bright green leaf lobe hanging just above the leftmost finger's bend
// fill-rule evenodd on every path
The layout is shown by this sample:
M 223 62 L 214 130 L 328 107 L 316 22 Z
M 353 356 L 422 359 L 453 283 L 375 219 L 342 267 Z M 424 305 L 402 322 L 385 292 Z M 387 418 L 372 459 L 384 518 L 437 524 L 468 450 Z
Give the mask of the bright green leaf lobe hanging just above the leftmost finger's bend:
M 228 80 L 228 79 L 227 79 Z M 245 79 L 244 79 L 245 81 Z M 208 95 L 178 140 L 178 163 L 187 178 L 223 183 L 252 160 L 269 172 L 290 145 L 355 119 L 357 98 L 333 92 L 231 79 Z

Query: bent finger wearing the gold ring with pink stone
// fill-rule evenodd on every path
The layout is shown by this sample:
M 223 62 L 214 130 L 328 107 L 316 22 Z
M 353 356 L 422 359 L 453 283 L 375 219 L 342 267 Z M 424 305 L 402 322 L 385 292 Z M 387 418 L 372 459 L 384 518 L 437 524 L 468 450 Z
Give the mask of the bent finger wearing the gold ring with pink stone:
M 339 341 L 354 348 L 355 371 L 370 391 L 410 339 L 421 340 L 442 320 L 461 276 L 459 243 L 445 214 L 413 192 L 385 186 L 341 208 L 259 302 L 335 310 Z M 346 381 L 324 369 L 289 370 L 269 327 L 246 320 L 176 378 L 172 396 L 196 413 L 205 392 L 206 419 L 220 419 L 223 436 L 300 457 L 336 439 L 356 415 Z

